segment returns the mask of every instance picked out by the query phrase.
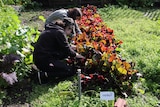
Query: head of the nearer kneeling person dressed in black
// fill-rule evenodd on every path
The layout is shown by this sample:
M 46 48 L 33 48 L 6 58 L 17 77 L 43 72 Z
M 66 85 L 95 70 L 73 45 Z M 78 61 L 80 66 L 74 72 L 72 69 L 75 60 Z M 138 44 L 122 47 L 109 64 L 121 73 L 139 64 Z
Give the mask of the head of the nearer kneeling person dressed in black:
M 72 18 L 64 18 L 63 21 L 57 20 L 55 24 L 64 28 L 66 35 L 70 35 L 74 29 L 74 21 Z

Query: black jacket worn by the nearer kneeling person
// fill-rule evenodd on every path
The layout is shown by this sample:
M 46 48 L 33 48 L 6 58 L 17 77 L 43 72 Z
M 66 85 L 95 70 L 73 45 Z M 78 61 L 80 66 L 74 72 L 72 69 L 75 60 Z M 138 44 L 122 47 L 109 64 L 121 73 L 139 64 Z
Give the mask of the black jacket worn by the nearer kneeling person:
M 76 52 L 70 48 L 64 29 L 53 23 L 48 24 L 35 44 L 35 64 L 54 59 L 61 60 L 68 56 L 75 57 Z

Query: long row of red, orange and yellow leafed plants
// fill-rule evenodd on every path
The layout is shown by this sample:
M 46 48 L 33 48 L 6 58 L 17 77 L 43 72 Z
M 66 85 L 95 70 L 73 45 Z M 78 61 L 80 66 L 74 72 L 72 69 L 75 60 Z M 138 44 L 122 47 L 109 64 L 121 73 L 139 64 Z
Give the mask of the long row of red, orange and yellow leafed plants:
M 78 21 L 83 32 L 73 38 L 77 52 L 86 57 L 81 62 L 83 89 L 132 89 L 131 77 L 137 72 L 134 63 L 119 55 L 117 48 L 123 43 L 115 39 L 114 31 L 107 27 L 95 6 L 82 7 L 83 16 Z

